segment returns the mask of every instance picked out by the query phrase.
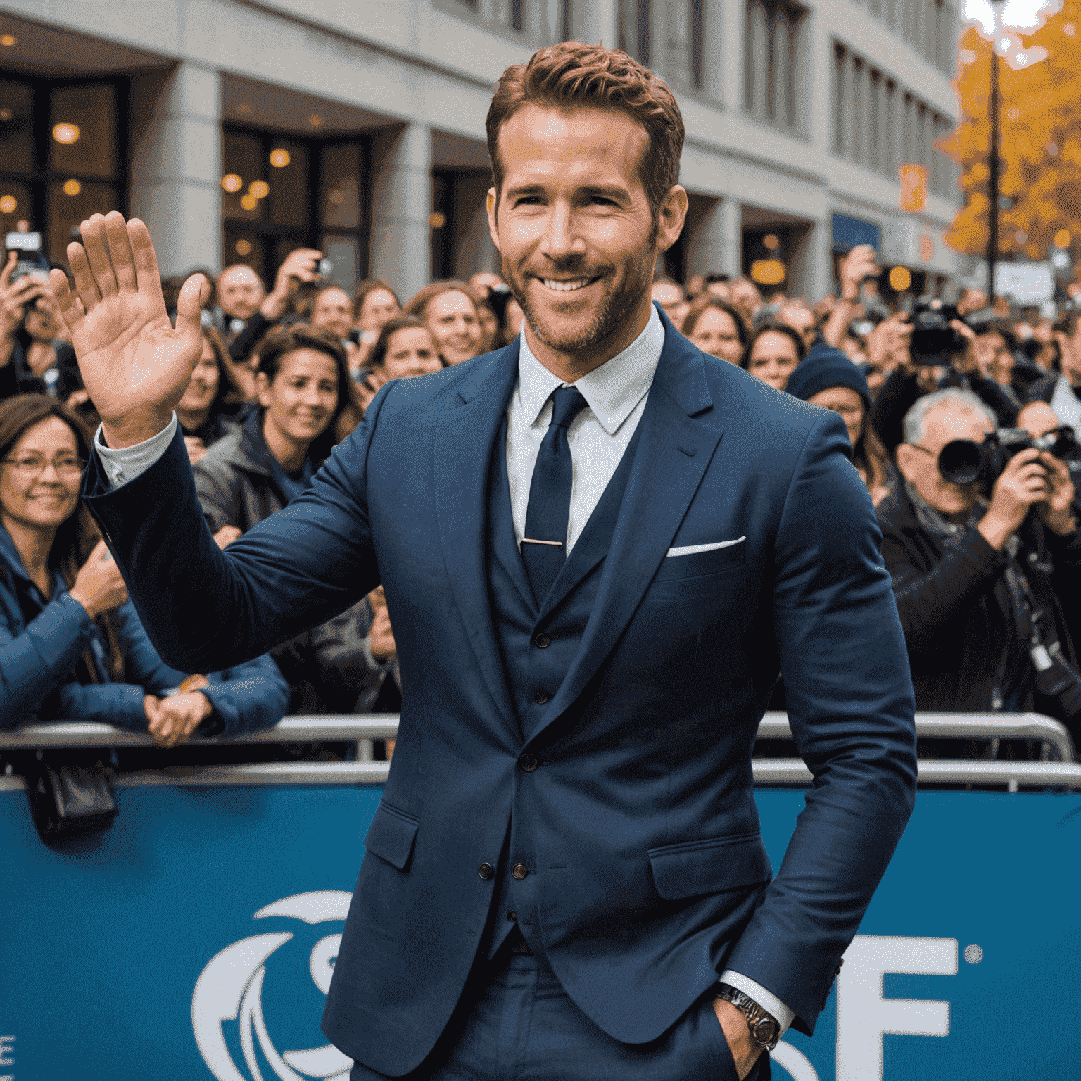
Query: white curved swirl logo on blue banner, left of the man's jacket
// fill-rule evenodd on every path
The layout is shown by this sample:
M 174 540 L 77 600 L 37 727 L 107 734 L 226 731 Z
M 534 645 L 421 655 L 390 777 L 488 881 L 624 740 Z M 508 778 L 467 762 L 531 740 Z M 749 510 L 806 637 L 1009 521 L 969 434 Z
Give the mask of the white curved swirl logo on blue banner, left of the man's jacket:
M 298 893 L 261 908 L 254 919 L 283 916 L 309 924 L 344 920 L 349 911 L 350 897 L 343 890 Z M 191 1028 L 199 1053 L 217 1081 L 264 1081 L 255 1057 L 256 1043 L 281 1081 L 308 1081 L 310 1078 L 347 1081 L 352 1059 L 343 1055 L 333 1044 L 279 1053 L 267 1032 L 263 1019 L 266 961 L 292 937 L 292 932 L 280 931 L 241 938 L 211 958 L 199 974 L 191 996 Z M 311 978 L 323 995 L 331 986 L 334 959 L 341 942 L 341 935 L 326 935 L 311 950 Z M 248 1073 L 241 1070 L 229 1053 L 222 1029 L 222 1024 L 226 1020 L 240 1023 L 240 1047 Z

